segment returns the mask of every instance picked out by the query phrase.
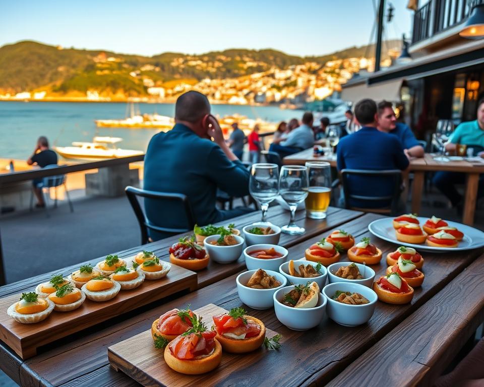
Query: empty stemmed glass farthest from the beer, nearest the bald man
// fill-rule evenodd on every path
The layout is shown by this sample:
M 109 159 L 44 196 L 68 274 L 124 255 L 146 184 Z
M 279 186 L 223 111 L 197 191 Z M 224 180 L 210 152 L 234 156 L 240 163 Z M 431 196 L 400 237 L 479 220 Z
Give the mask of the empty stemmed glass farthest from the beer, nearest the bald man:
M 252 164 L 251 177 L 249 179 L 249 192 L 259 203 L 262 211 L 261 222 L 266 221 L 267 210 L 271 203 L 279 195 L 279 167 L 277 164 L 256 163 Z

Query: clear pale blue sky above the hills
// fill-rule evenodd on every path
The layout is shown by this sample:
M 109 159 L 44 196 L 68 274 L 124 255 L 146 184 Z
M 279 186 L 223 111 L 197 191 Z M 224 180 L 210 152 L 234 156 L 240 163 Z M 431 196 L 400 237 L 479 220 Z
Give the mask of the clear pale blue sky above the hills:
M 227 48 L 321 55 L 368 44 L 378 1 L 0 0 L 0 46 L 35 40 L 148 56 Z M 386 0 L 395 17 L 384 38 L 409 38 L 407 2 Z

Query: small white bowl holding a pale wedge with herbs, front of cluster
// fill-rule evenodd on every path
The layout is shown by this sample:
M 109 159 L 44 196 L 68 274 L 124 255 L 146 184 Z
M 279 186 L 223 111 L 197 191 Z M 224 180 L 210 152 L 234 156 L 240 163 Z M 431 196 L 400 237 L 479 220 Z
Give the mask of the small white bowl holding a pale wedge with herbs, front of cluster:
M 284 294 L 292 289 L 294 286 L 286 286 L 274 293 L 274 311 L 277 319 L 293 331 L 306 331 L 317 327 L 324 317 L 326 297 L 319 293 L 318 303 L 314 308 L 292 308 L 282 303 Z

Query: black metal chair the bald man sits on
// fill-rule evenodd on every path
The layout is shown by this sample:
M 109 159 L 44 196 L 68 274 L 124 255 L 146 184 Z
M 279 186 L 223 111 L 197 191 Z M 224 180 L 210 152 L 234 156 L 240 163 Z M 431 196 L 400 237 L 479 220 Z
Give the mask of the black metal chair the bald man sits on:
M 141 188 L 132 187 L 131 185 L 128 185 L 125 188 L 125 191 L 126 195 L 128 196 L 128 200 L 130 201 L 131 207 L 133 207 L 133 211 L 135 212 L 136 219 L 138 219 L 138 223 L 140 225 L 141 244 L 146 244 L 150 242 L 148 234 L 149 229 L 170 235 L 176 235 L 193 230 L 195 226 L 195 218 L 193 216 L 192 208 L 190 207 L 190 203 L 186 195 L 183 195 L 181 193 L 148 191 Z M 138 197 L 159 200 L 168 203 L 168 205 L 171 203 L 171 205 L 175 204 L 181 207 L 184 210 L 185 214 L 179 214 L 180 216 L 178 219 L 183 219 L 183 216 L 185 215 L 186 227 L 173 228 L 152 224 L 146 218 L 143 210 L 141 209 Z

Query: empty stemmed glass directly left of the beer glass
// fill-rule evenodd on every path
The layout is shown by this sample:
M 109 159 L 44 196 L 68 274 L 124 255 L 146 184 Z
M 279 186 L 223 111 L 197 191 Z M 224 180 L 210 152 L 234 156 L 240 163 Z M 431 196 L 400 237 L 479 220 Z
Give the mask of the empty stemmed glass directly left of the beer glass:
M 301 165 L 284 165 L 279 176 L 279 193 L 291 210 L 291 220 L 287 226 L 281 227 L 281 231 L 297 235 L 306 230 L 295 224 L 294 215 L 297 205 L 308 196 L 308 168 Z

